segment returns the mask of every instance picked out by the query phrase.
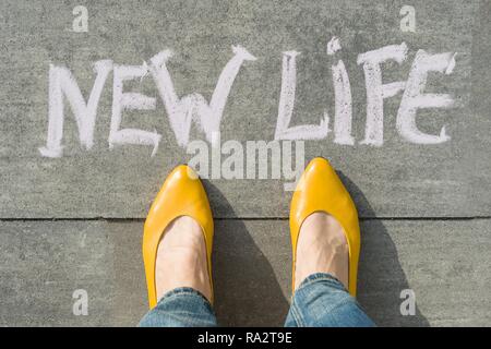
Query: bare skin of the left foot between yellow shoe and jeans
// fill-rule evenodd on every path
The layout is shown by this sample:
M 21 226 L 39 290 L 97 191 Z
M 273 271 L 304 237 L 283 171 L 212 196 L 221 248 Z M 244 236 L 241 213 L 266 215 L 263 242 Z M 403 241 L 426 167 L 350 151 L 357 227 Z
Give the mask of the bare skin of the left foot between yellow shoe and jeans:
M 203 231 L 193 218 L 179 217 L 166 228 L 155 263 L 158 300 L 179 287 L 191 287 L 211 300 L 206 245 Z

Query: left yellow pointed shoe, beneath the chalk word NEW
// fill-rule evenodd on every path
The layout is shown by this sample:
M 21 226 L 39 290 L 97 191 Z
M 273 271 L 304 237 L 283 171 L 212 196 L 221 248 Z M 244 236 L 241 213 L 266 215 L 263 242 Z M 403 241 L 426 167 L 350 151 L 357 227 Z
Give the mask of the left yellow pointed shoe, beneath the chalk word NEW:
M 157 249 L 166 227 L 176 218 L 190 216 L 201 226 L 206 244 L 209 286 L 212 288 L 213 216 L 206 192 L 196 172 L 189 166 L 176 167 L 167 177 L 145 220 L 143 231 L 143 262 L 149 309 L 157 305 L 155 263 Z

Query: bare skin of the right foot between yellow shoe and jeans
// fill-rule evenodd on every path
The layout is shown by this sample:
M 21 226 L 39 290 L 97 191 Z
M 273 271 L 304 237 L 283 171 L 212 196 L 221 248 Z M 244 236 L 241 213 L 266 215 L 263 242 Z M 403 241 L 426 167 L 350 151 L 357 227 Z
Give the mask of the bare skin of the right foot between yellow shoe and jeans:
M 349 249 L 343 227 L 331 215 L 314 213 L 300 228 L 295 289 L 310 275 L 328 273 L 348 288 Z

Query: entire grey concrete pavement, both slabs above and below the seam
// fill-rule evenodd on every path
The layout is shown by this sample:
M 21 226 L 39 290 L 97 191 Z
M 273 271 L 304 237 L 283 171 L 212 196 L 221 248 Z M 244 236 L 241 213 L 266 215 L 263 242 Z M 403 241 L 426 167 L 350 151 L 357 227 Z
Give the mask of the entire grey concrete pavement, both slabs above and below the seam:
M 88 10 L 88 33 L 72 31 L 72 10 Z M 91 151 L 65 107 L 63 157 L 38 148 L 48 132 L 49 64 L 70 69 L 86 97 L 93 63 L 142 64 L 170 48 L 179 96 L 209 99 L 241 45 L 247 62 L 230 92 L 221 141 L 274 139 L 282 53 L 301 51 L 291 125 L 334 117 L 331 65 L 346 64 L 354 98 L 354 146 L 333 134 L 306 142 L 306 160 L 330 158 L 363 218 L 359 299 L 380 325 L 491 325 L 491 1 L 411 1 L 416 33 L 399 29 L 403 0 L 0 2 L 0 325 L 134 325 L 145 312 L 142 219 L 168 171 L 192 157 L 178 146 L 149 76 L 125 85 L 157 97 L 153 111 L 124 111 L 124 128 L 161 134 L 151 147 L 109 149 L 112 73 L 98 106 Z M 339 36 L 343 50 L 326 55 Z M 400 95 L 384 105 L 384 144 L 360 144 L 367 92 L 359 53 L 407 43 L 408 60 L 383 67 L 406 80 L 418 49 L 458 52 L 451 75 L 428 91 L 452 94 L 452 109 L 418 113 L 418 127 L 451 141 L 406 143 L 396 132 Z M 128 87 L 127 87 L 128 86 Z M 331 122 L 331 128 L 333 128 Z M 196 128 L 191 140 L 203 140 Z M 224 157 L 225 158 L 225 157 Z M 205 180 L 217 220 L 215 276 L 223 325 L 282 325 L 288 310 L 288 204 L 283 180 Z M 52 221 L 51 219 L 61 219 Z M 286 239 L 286 240 L 285 240 Z M 89 315 L 72 314 L 86 289 Z M 416 316 L 402 316 L 399 292 L 414 289 Z

